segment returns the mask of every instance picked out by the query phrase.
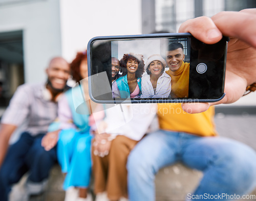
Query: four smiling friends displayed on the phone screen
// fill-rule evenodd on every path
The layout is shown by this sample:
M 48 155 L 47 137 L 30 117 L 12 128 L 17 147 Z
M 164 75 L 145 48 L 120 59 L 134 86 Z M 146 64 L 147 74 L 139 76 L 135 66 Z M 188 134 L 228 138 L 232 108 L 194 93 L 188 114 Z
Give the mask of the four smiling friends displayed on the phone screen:
M 168 45 L 166 58 L 153 54 L 145 63 L 140 54 L 124 54 L 120 61 L 112 57 L 112 97 L 187 98 L 189 63 L 184 58 L 183 45 L 179 42 Z M 165 72 L 166 67 L 169 70 Z

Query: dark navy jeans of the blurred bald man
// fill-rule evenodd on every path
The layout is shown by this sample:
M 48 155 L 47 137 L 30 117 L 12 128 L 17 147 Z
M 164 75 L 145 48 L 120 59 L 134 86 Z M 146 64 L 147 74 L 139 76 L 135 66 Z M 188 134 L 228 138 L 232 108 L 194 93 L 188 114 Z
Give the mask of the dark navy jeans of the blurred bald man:
M 39 183 L 48 176 L 56 162 L 56 149 L 46 151 L 41 146 L 44 134 L 32 137 L 28 132 L 22 133 L 19 140 L 10 145 L 0 169 L 0 195 L 2 201 L 8 200 L 11 185 L 29 171 L 28 181 Z

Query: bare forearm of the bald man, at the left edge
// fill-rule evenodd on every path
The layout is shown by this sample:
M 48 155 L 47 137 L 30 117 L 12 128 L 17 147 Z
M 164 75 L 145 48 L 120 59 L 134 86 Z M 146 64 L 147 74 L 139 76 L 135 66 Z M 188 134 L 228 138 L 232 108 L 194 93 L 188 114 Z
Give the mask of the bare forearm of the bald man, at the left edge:
M 0 125 L 0 169 L 5 159 L 7 149 L 9 147 L 10 137 L 16 128 L 16 125 L 11 124 Z

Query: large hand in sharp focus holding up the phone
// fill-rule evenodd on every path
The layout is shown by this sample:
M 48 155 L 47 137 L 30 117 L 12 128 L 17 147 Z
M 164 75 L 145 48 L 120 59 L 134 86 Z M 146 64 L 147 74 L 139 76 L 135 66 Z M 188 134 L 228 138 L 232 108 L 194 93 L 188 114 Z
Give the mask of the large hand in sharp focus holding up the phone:
M 220 12 L 211 18 L 198 17 L 183 23 L 179 32 L 190 32 L 205 43 L 216 43 L 229 36 L 225 77 L 225 97 L 215 103 L 184 103 L 189 113 L 200 113 L 211 105 L 233 103 L 240 99 L 246 86 L 256 81 L 256 9 Z M 242 68 L 241 68 L 242 67 Z

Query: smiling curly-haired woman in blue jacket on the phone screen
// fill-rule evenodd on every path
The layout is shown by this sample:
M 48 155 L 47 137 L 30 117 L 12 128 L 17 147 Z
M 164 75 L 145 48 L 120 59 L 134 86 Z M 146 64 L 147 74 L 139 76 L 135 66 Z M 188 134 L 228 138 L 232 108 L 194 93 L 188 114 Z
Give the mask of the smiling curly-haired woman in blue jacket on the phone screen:
M 144 72 L 142 55 L 124 54 L 120 66 L 122 77 L 112 85 L 113 98 L 140 98 L 141 76 Z

